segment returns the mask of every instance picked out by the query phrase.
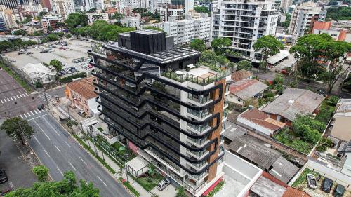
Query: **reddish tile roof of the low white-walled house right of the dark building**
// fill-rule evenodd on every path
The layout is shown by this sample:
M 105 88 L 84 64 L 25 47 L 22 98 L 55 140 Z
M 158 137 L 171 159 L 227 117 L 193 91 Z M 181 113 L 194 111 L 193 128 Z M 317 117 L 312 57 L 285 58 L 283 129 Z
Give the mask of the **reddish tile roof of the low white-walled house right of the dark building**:
M 283 128 L 285 125 L 285 123 L 273 120 L 270 116 L 256 108 L 248 109 L 239 116 L 273 131 Z

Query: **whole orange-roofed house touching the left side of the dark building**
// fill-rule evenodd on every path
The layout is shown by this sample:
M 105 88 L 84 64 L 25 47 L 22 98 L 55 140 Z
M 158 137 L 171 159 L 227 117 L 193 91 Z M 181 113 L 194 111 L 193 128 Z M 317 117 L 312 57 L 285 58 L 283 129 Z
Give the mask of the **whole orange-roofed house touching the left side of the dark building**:
M 85 111 L 88 116 L 99 113 L 98 102 L 95 101 L 98 95 L 94 92 L 94 79 L 95 76 L 89 76 L 67 83 L 65 86 L 65 93 L 72 104 Z

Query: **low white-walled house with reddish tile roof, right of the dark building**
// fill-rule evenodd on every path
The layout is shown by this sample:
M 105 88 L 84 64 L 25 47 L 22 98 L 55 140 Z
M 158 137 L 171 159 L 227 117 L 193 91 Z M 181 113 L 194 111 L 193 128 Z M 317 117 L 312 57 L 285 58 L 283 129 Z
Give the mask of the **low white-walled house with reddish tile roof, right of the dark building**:
M 285 123 L 270 118 L 270 116 L 256 108 L 247 109 L 239 114 L 237 123 L 249 130 L 268 136 L 284 128 L 285 125 Z

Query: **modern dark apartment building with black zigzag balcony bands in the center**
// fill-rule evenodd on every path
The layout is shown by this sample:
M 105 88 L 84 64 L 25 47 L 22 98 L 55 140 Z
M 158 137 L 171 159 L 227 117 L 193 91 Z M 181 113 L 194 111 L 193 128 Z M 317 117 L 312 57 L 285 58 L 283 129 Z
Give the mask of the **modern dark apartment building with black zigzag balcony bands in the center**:
M 153 30 L 119 34 L 102 48 L 88 54 L 110 134 L 201 196 L 224 174 L 220 136 L 231 69 L 202 67 L 201 53 Z

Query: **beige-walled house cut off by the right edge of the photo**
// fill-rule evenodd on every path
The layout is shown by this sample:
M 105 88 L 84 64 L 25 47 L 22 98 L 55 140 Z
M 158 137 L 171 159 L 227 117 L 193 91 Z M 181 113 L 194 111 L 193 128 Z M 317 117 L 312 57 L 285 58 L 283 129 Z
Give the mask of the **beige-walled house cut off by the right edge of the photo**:
M 336 107 L 329 138 L 334 138 L 333 142 L 336 144 L 339 140 L 349 142 L 351 140 L 351 99 L 340 99 Z

